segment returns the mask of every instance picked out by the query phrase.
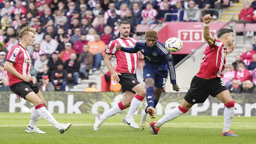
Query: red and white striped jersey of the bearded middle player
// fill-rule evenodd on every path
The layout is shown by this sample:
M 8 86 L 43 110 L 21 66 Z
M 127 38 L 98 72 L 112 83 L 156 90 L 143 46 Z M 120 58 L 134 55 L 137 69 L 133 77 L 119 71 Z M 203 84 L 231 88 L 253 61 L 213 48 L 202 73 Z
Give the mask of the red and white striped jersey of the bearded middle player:
M 117 38 L 108 44 L 106 53 L 116 56 L 116 72 L 136 74 L 139 53 L 116 51 L 116 44 L 120 44 L 123 47 L 131 47 L 135 45 L 136 41 L 137 39 L 131 37 L 129 39 Z

